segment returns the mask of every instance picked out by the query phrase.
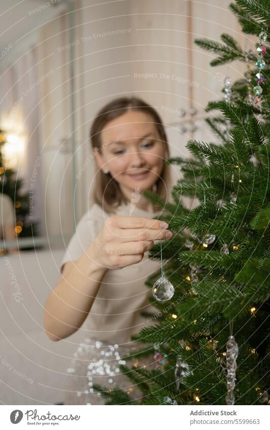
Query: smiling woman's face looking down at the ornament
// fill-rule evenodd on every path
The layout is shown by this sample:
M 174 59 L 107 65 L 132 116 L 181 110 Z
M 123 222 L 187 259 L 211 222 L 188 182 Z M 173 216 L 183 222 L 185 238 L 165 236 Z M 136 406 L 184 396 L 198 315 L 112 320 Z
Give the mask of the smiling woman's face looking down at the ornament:
M 101 131 L 101 142 L 98 166 L 109 171 L 122 191 L 151 189 L 157 182 L 168 150 L 150 114 L 129 110 L 111 120 Z

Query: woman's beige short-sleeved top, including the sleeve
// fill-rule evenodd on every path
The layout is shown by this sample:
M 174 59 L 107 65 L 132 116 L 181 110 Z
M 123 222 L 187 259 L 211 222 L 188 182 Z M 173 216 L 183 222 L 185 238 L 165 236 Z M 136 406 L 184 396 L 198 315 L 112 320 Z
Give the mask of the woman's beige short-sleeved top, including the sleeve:
M 116 215 L 147 218 L 155 218 L 159 214 L 161 211 L 150 213 L 135 207 L 130 215 L 130 206 L 124 204 L 118 207 L 116 213 Z M 99 205 L 94 204 L 91 207 L 76 227 L 76 232 L 61 261 L 61 269 L 65 262 L 81 257 L 99 233 L 104 219 L 109 216 Z M 155 244 L 160 242 L 155 241 Z M 137 264 L 126 266 L 121 270 L 108 269 L 81 329 L 87 330 L 90 338 L 123 344 L 130 340 L 131 334 L 137 333 L 146 325 L 155 324 L 157 320 L 147 320 L 140 315 L 140 312 L 151 314 L 157 312 L 157 308 L 148 303 L 147 297 L 151 291 L 145 285 L 145 281 L 153 272 L 160 269 L 161 262 L 149 259 L 148 251 Z

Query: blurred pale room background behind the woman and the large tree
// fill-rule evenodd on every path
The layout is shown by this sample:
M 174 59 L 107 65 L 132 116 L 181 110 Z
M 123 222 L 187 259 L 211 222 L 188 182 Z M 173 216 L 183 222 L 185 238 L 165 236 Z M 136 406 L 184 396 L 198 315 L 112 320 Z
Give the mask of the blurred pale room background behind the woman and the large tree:
M 0 3 L 0 402 L 61 403 L 82 334 L 50 341 L 43 306 L 76 223 L 92 204 L 89 129 L 113 98 L 136 95 L 166 124 L 172 157 L 216 141 L 204 118 L 244 63 L 211 67 L 194 44 L 231 34 L 227 0 L 3 0 Z M 174 182 L 181 178 L 172 167 Z M 15 299 L 18 298 L 18 300 Z

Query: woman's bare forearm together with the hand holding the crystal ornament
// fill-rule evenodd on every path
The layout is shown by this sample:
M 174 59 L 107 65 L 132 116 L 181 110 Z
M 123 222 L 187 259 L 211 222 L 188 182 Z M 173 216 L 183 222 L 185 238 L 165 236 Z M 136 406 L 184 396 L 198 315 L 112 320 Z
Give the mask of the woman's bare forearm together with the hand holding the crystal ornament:
M 151 218 L 113 215 L 79 260 L 66 263 L 63 278 L 45 304 L 44 327 L 52 340 L 70 336 L 90 312 L 108 270 L 139 263 L 154 240 L 170 239 L 168 224 Z M 168 236 L 169 235 L 169 236 Z M 102 246 L 97 246 L 96 243 Z

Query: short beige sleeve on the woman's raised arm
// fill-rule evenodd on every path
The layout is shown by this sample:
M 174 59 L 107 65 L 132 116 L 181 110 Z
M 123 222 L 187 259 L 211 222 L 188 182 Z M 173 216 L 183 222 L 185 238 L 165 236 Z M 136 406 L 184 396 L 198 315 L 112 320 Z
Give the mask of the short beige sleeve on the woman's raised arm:
M 104 216 L 104 212 L 99 209 L 97 204 L 94 204 L 92 208 L 85 213 L 76 226 L 76 231 L 66 248 L 60 263 L 60 271 L 62 271 L 63 265 L 68 261 L 78 260 L 94 242 L 102 228 L 104 218 L 106 218 L 106 214 Z

